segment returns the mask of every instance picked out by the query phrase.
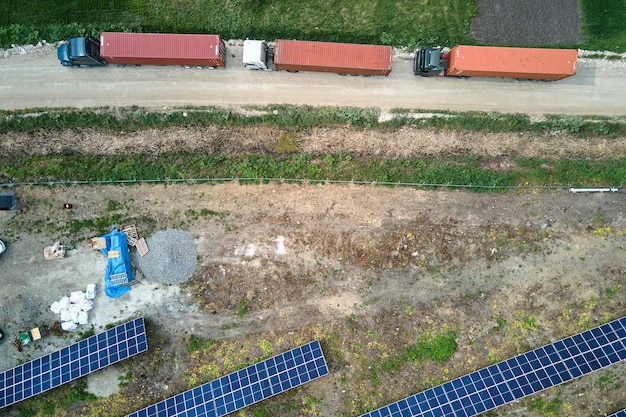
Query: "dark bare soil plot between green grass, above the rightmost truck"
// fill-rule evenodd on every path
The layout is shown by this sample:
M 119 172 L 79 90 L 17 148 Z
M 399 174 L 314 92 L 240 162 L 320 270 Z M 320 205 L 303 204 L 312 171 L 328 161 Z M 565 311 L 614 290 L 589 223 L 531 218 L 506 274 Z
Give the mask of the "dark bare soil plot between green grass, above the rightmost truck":
M 470 34 L 486 45 L 559 45 L 581 40 L 578 0 L 478 0 Z

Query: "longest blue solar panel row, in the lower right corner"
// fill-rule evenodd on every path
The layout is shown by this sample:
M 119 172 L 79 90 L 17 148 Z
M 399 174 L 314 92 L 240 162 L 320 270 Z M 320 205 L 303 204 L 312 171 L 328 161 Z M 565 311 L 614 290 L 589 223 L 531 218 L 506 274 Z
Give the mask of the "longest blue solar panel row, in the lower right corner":
M 362 417 L 471 417 L 624 359 L 626 317 L 522 353 Z M 626 410 L 615 416 L 626 417 Z

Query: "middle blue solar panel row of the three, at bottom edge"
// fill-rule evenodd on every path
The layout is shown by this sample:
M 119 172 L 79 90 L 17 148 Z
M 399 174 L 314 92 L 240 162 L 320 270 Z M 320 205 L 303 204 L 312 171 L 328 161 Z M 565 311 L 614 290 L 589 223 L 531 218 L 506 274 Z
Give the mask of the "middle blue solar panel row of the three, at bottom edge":
M 326 374 L 324 352 L 314 340 L 127 417 L 221 417 Z

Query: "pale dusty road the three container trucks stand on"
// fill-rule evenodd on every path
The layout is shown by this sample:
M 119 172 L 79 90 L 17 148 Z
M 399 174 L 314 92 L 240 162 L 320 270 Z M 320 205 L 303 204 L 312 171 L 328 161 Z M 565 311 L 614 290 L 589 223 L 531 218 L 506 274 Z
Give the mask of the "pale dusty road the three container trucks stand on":
M 234 55 L 234 56 L 233 56 Z M 227 69 L 65 68 L 54 51 L 0 58 L 0 108 L 265 105 L 271 103 L 481 110 L 505 113 L 626 115 L 626 63 L 579 60 L 556 82 L 422 78 L 409 59 L 389 77 L 245 70 L 230 48 Z

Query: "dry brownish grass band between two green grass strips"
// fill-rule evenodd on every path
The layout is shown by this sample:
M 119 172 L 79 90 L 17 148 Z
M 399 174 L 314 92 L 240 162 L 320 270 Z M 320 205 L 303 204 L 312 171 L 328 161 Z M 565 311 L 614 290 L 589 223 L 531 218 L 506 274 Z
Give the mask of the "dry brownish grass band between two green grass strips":
M 318 127 L 289 132 L 268 126 L 236 128 L 172 127 L 133 132 L 91 129 L 0 135 L 0 154 L 21 157 L 37 154 L 85 155 L 162 154 L 187 151 L 237 156 L 283 152 L 294 146 L 305 154 L 344 154 L 377 158 L 423 156 L 488 156 L 602 160 L 626 155 L 623 138 L 586 137 L 565 133 L 482 133 L 402 127 L 361 129 Z

